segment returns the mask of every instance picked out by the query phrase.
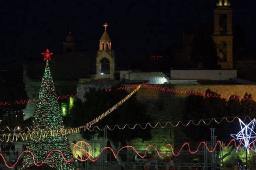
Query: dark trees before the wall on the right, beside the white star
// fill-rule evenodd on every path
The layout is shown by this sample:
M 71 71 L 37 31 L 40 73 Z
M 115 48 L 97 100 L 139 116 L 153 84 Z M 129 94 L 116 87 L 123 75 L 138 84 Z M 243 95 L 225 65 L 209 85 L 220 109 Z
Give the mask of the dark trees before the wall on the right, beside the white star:
M 206 90 L 206 95 L 209 97 L 201 97 L 190 95 L 185 100 L 183 119 L 184 120 L 199 120 L 199 119 L 211 119 L 220 117 L 235 117 L 235 116 L 250 116 L 254 117 L 256 110 L 256 103 L 251 99 L 251 95 L 245 94 L 244 98 L 246 100 L 239 100 L 239 97 L 232 95 L 228 101 L 218 97 L 219 94 Z M 208 122 L 208 121 L 206 121 Z M 191 138 L 192 141 L 208 141 L 210 139 L 209 128 L 216 128 L 215 135 L 218 136 L 218 140 L 223 140 L 229 142 L 231 139 L 230 134 L 240 131 L 240 126 L 238 121 L 233 123 L 226 123 L 225 120 L 221 124 L 216 124 L 212 122 L 210 125 L 200 124 L 199 126 L 194 126 L 190 124 L 184 129 L 187 137 Z M 229 152 L 223 155 L 222 158 L 217 156 L 218 161 L 229 156 L 235 147 L 231 147 Z M 217 150 L 217 155 L 219 155 L 219 150 Z

